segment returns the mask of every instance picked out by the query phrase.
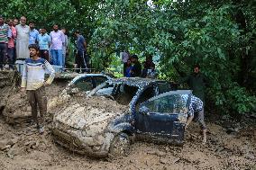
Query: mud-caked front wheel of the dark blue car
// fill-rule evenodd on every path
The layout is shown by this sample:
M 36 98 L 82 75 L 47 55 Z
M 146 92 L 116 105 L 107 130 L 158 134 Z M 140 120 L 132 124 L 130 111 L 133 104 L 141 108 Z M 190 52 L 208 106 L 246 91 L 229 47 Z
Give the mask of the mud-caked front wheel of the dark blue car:
M 109 149 L 111 157 L 123 157 L 127 156 L 130 152 L 131 141 L 126 133 L 118 133 L 112 140 L 112 144 Z

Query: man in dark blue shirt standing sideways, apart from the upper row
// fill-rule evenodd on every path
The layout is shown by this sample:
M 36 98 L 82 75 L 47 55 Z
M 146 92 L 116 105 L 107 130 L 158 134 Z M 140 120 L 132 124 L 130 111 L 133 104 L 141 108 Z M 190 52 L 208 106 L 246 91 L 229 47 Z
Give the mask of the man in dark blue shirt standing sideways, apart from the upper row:
M 77 72 L 79 72 L 79 69 L 82 68 L 82 73 L 84 73 L 88 68 L 89 58 L 87 57 L 87 41 L 85 38 L 80 35 L 79 31 L 75 31 L 75 35 L 78 38 L 77 39 L 77 49 L 78 54 L 76 58 L 76 64 L 77 64 Z

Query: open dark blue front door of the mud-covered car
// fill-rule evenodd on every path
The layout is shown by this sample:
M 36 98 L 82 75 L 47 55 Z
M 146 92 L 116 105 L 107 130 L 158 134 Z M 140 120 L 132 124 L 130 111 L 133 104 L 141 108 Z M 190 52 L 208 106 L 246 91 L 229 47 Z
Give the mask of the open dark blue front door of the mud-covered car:
M 178 90 L 152 97 L 135 115 L 135 130 L 142 139 L 182 145 L 191 91 Z

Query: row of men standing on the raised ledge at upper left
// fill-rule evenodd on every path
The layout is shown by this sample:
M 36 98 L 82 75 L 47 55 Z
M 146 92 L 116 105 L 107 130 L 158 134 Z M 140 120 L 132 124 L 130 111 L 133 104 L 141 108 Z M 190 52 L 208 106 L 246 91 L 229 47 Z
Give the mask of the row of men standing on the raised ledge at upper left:
M 20 23 L 19 23 L 20 22 Z M 16 60 L 24 60 L 30 57 L 28 46 L 37 44 L 40 50 L 40 58 L 46 59 L 51 65 L 65 67 L 65 58 L 69 53 L 69 39 L 67 30 L 59 25 L 54 24 L 50 34 L 47 33 L 45 27 L 35 29 L 35 23 L 26 24 L 26 17 L 22 16 L 18 19 L 7 19 L 0 16 L 0 68 L 5 65 L 14 68 Z M 79 31 L 75 31 L 77 37 L 78 55 L 76 56 L 76 65 L 78 68 L 86 69 L 88 66 L 87 42 L 80 35 Z M 84 70 L 82 69 L 82 70 Z

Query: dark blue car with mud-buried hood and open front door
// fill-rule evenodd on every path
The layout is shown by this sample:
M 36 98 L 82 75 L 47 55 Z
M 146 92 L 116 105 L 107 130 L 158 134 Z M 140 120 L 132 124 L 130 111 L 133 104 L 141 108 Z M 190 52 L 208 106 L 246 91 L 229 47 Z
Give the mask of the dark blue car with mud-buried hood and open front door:
M 114 85 L 111 94 L 97 92 Z M 118 78 L 92 90 L 87 105 L 72 101 L 56 112 L 52 130 L 57 143 L 92 157 L 125 155 L 133 139 L 182 145 L 190 91 L 172 91 L 166 81 L 145 78 Z M 170 91 L 170 92 L 169 92 Z M 101 106 L 121 111 L 107 110 Z M 100 107 L 100 108 L 97 108 Z

